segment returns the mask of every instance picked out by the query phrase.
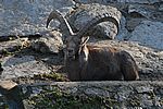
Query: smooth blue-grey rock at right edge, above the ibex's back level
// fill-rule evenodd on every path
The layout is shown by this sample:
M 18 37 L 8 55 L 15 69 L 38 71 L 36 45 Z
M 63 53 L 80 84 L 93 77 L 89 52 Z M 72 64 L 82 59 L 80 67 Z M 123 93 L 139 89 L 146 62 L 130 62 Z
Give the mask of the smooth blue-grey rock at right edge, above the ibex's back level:
M 163 23 L 143 21 L 131 33 L 129 40 L 163 50 Z

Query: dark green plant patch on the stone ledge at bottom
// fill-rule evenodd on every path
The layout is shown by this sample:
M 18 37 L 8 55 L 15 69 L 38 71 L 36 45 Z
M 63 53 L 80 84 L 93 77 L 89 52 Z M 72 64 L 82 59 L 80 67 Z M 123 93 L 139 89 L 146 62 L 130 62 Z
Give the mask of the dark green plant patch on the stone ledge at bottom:
M 100 96 L 72 95 L 58 87 L 42 90 L 28 99 L 28 104 L 35 109 L 110 109 L 116 102 Z

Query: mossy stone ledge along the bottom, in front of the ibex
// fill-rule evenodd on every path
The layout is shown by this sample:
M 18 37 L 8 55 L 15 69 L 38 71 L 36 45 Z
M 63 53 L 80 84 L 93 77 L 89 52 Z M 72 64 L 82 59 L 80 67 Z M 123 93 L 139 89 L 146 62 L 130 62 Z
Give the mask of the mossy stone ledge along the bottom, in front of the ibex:
M 88 105 L 93 101 L 89 109 L 98 107 L 122 109 L 161 109 L 163 107 L 162 82 L 135 81 L 135 82 L 54 82 L 33 85 L 21 85 L 23 90 L 29 92 L 28 99 L 24 99 L 24 106 L 35 108 L 54 107 L 54 102 L 61 105 L 58 108 Z M 75 89 L 74 89 L 75 88 Z M 39 90 L 39 92 L 36 92 Z M 24 94 L 22 98 L 24 98 Z M 57 99 L 58 98 L 58 99 Z M 70 101 L 64 104 L 64 101 Z M 40 104 L 40 102 L 43 104 Z M 48 106 L 45 106 L 48 105 Z M 70 106 L 70 107 L 68 107 Z M 80 106 L 78 106 L 80 107 Z

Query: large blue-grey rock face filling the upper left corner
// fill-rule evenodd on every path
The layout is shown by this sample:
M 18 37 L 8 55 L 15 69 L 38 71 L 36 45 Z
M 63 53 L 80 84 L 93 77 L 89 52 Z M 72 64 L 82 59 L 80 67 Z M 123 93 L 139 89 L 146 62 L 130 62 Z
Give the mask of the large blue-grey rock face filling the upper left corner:
M 47 16 L 53 9 L 65 13 L 72 5 L 72 0 L 1 0 L 0 36 L 35 35 L 46 29 Z

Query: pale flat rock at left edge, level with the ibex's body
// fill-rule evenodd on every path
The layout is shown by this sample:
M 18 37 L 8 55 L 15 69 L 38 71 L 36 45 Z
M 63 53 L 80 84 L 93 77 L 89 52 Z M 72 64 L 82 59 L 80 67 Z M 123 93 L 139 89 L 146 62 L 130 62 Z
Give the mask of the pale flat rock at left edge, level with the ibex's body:
M 50 73 L 48 68 L 34 56 L 10 56 L 3 58 L 3 72 L 0 78 L 14 78 L 20 76 L 33 76 L 34 74 Z

